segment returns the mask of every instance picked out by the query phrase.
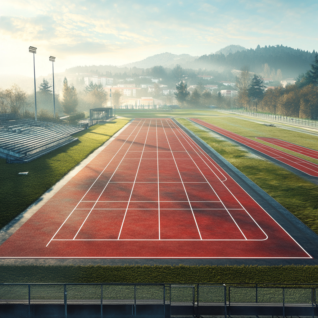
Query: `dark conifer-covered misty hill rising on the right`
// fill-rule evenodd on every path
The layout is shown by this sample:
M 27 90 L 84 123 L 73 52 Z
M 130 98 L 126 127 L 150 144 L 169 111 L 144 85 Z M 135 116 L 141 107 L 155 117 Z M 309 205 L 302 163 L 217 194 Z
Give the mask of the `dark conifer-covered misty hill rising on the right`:
M 310 64 L 315 59 L 315 50 L 305 52 L 300 49 L 293 49 L 283 45 L 260 47 L 235 53 L 202 55 L 192 65 L 205 67 L 207 69 L 217 69 L 224 67 L 227 69 L 240 70 L 242 67 L 249 67 L 251 72 L 260 73 L 264 64 L 275 70 L 280 69 L 284 78 L 297 77 L 300 73 L 305 73 L 310 69 Z

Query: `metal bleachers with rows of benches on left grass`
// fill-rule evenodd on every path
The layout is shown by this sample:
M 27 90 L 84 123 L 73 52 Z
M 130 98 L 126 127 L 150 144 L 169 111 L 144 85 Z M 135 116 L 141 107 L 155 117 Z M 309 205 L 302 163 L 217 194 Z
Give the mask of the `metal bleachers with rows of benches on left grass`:
M 8 114 L 1 114 L 0 120 L 0 157 L 8 163 L 30 162 L 78 140 L 72 135 L 85 129 L 83 125 L 19 119 Z

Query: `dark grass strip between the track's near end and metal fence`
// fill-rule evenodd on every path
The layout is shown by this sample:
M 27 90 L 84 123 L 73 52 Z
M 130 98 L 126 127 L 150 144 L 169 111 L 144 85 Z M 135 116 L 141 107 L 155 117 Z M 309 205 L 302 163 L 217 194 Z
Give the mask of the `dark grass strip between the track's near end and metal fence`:
M 318 266 L 0 266 L 0 283 L 308 283 Z

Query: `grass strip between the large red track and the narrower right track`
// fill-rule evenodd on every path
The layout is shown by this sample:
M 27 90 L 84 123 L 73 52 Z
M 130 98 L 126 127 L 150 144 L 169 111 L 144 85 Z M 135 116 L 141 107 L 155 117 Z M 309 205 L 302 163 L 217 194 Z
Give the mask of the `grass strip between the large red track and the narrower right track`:
M 186 119 L 180 118 L 178 121 L 318 234 L 318 186 L 316 184 L 272 162 L 252 156 L 242 147 L 222 140 Z M 226 126 L 226 123 L 223 126 Z

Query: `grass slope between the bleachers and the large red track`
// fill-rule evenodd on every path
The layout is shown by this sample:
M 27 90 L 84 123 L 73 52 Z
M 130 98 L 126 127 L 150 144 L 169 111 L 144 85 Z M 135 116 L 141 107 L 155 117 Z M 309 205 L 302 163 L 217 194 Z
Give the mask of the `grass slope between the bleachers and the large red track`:
M 74 135 L 79 140 L 28 163 L 6 164 L 0 159 L 0 228 L 35 202 L 71 169 L 128 123 L 116 119 Z M 26 176 L 19 172 L 29 171 Z

